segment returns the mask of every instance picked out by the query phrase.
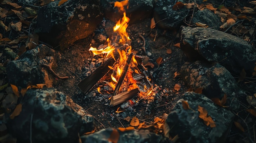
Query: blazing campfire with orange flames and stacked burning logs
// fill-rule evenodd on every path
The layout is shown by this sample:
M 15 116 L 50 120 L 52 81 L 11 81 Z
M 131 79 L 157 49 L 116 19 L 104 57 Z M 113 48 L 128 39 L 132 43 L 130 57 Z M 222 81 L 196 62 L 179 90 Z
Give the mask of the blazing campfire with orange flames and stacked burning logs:
M 157 87 L 154 88 L 152 77 L 144 66 L 149 57 L 132 53 L 131 40 L 126 32 L 130 20 L 125 12 L 128 0 L 115 2 L 115 7 L 124 15 L 113 27 L 116 35 L 109 37 L 105 45 L 98 48 L 90 46 L 89 49 L 94 55 L 104 57 L 105 62 L 83 79 L 78 87 L 86 94 L 97 87 L 100 94 L 111 95 L 110 106 L 121 104 L 122 109 L 137 106 L 139 101 L 145 100 L 146 113 L 150 114 Z

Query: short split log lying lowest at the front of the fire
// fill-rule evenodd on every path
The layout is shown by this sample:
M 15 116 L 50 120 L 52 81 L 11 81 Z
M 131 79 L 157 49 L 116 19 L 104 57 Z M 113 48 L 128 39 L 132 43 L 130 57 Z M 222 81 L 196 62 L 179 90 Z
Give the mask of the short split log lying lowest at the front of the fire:
M 118 95 L 112 96 L 110 100 L 110 105 L 111 106 L 116 106 L 121 103 L 124 103 L 124 101 L 130 100 L 134 97 L 136 97 L 139 93 L 139 89 L 135 88 L 133 90 L 129 90 L 126 92 L 119 93 Z

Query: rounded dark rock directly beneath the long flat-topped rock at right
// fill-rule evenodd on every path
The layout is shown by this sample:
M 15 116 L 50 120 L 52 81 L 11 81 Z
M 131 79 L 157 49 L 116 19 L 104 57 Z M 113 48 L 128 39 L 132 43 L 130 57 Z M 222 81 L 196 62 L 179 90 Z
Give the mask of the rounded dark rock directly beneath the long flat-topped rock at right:
M 202 94 L 209 99 L 222 99 L 227 96 L 228 106 L 232 110 L 238 110 L 237 99 L 240 92 L 234 77 L 229 71 L 218 63 L 205 61 L 185 62 L 180 74 L 184 81 L 194 90 L 202 88 Z

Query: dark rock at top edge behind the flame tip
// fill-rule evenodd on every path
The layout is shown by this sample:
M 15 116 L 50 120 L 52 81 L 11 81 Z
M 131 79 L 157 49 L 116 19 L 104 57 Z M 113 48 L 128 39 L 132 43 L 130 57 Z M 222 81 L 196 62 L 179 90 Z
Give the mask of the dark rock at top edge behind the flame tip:
M 105 11 L 105 18 L 117 22 L 123 17 L 123 12 L 114 8 L 114 2 L 121 0 L 101 0 Z M 130 18 L 129 24 L 140 22 L 146 18 L 152 18 L 154 0 L 129 0 L 126 16 Z

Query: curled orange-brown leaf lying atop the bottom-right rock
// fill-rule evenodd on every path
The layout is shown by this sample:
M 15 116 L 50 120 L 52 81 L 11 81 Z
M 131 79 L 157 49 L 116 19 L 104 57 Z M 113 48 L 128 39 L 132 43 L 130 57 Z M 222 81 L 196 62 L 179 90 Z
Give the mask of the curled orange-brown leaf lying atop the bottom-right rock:
M 207 125 L 207 126 L 210 125 L 211 128 L 216 127 L 213 119 L 210 116 L 207 116 L 208 113 L 207 113 L 206 109 L 204 109 L 203 107 L 198 105 L 198 111 L 200 112 L 198 117 L 204 120 L 205 125 Z

